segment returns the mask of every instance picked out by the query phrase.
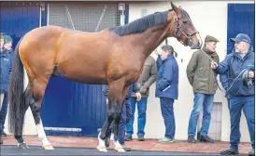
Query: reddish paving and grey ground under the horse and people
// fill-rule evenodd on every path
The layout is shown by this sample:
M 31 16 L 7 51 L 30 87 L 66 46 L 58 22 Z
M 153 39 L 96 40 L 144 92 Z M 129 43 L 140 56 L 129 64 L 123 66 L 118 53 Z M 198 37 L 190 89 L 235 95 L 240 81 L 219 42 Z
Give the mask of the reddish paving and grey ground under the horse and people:
M 42 150 L 37 136 L 24 136 L 24 141 L 30 146 L 29 150 L 19 150 L 13 136 L 3 137 L 1 155 L 218 155 L 220 150 L 229 148 L 228 142 L 196 143 L 176 141 L 171 144 L 160 144 L 156 139 L 146 141 L 127 141 L 127 147 L 132 152 L 118 153 L 110 146 L 107 153 L 97 151 L 98 140 L 95 137 L 48 136 L 55 150 Z M 14 145 L 14 146 L 13 146 Z M 241 143 L 239 151 L 247 154 L 251 150 L 249 143 Z

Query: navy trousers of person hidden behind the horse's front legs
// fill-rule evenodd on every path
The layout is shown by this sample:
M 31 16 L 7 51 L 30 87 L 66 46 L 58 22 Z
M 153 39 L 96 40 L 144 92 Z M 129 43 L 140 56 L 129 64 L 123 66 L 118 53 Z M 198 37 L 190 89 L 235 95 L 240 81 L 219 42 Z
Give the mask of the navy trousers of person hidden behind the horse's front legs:
M 124 136 L 125 136 L 125 124 L 131 118 L 131 104 L 128 100 L 124 100 L 122 110 L 121 110 L 121 120 L 119 123 L 119 132 L 118 132 L 118 139 L 121 145 L 124 144 Z M 111 135 L 112 123 L 108 129 L 107 136 Z

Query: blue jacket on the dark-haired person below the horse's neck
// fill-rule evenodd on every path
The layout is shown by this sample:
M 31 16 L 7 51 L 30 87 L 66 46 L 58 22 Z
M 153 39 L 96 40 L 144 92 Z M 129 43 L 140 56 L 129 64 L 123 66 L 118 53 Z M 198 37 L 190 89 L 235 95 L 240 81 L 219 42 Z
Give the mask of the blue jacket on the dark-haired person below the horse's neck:
M 178 99 L 178 63 L 173 55 L 163 60 L 157 73 L 155 96 Z

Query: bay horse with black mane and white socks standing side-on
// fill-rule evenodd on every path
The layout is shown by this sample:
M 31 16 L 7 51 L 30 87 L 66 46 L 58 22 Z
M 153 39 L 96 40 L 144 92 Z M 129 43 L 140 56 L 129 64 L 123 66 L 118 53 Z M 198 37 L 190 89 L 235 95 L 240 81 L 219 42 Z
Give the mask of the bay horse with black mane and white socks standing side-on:
M 39 138 L 44 139 L 44 146 L 51 146 L 40 118 L 41 102 L 50 76 L 60 75 L 82 84 L 108 84 L 107 119 L 98 136 L 97 149 L 107 151 L 104 139 L 113 122 L 111 140 L 115 150 L 124 151 L 117 137 L 122 102 L 129 85 L 139 78 L 146 58 L 167 37 L 176 37 L 192 49 L 202 46 L 189 14 L 173 3 L 171 7 L 101 32 L 80 32 L 58 26 L 27 32 L 16 46 L 9 85 L 9 130 L 20 148 L 28 148 L 22 138 L 28 107 L 32 110 Z M 23 69 L 29 80 L 25 89 Z

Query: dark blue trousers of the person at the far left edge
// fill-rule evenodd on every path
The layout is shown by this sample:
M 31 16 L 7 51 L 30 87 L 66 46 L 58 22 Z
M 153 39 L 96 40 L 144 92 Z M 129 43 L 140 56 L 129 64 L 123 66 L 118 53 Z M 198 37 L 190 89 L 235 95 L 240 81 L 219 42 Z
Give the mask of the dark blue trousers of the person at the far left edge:
M 2 103 L 2 109 L 0 111 L 0 135 L 2 134 L 2 132 L 5 129 L 5 122 L 6 122 L 6 117 L 7 117 L 7 108 L 8 108 L 8 94 L 3 93 L 1 94 L 1 96 L 4 96 L 4 100 Z

